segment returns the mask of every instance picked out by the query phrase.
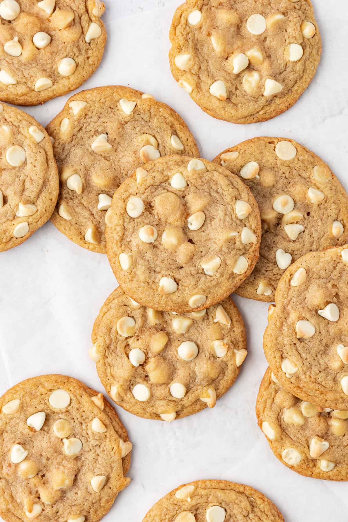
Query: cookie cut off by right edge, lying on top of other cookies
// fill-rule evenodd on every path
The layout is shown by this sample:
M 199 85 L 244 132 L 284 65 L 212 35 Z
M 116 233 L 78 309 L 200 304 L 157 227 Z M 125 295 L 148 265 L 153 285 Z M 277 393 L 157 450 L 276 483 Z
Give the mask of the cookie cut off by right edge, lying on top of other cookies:
M 263 349 L 279 383 L 322 408 L 348 410 L 348 245 L 291 265 L 270 305 Z

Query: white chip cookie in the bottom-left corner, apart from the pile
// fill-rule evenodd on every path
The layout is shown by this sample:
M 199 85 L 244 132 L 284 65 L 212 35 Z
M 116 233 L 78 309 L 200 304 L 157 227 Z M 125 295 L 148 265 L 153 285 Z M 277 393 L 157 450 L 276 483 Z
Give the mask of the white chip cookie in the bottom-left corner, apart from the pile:
M 115 410 L 76 379 L 42 375 L 0 398 L 0 515 L 97 522 L 130 482 Z

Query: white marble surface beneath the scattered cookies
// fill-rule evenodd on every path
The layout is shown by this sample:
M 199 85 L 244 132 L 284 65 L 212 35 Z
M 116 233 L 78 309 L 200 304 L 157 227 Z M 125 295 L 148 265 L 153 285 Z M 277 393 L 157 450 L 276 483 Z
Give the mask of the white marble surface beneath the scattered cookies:
M 185 118 L 207 159 L 254 136 L 294 138 L 317 152 L 348 188 L 345 0 L 314 0 L 323 55 L 302 98 L 274 120 L 247 126 L 209 117 L 173 80 L 167 34 L 179 0 L 105 2 L 106 52 L 83 88 L 121 84 L 151 92 Z M 45 125 L 67 98 L 27 110 Z M 83 250 L 47 223 L 26 243 L 1 254 L 0 274 L 0 393 L 22 379 L 50 372 L 72 375 L 103 391 L 87 352 L 93 320 L 116 286 L 106 257 Z M 247 325 L 249 355 L 235 385 L 213 410 L 167 424 L 118 408 L 134 443 L 133 481 L 105 522 L 140 522 L 162 495 L 201 478 L 252 485 L 279 506 L 287 522 L 347 520 L 346 484 L 287 469 L 258 429 L 255 400 L 267 367 L 261 342 L 267 305 L 235 301 Z

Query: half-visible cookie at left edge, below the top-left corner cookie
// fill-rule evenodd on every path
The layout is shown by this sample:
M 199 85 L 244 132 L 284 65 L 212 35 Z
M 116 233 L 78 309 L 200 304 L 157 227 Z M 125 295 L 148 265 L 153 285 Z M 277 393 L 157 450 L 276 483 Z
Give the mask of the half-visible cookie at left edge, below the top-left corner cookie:
M 0 4 L 0 11 L 1 11 Z M 58 171 L 45 129 L 0 103 L 0 252 L 20 245 L 50 219 Z

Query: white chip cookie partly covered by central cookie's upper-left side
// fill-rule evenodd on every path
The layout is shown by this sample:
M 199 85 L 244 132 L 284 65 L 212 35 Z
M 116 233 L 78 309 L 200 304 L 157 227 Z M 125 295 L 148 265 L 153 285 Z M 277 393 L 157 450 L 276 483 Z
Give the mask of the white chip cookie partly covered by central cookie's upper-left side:
M 99 87 L 74 94 L 47 126 L 60 174 L 52 221 L 71 241 L 106 253 L 105 214 L 116 188 L 143 163 L 197 156 L 182 118 L 149 94 Z

